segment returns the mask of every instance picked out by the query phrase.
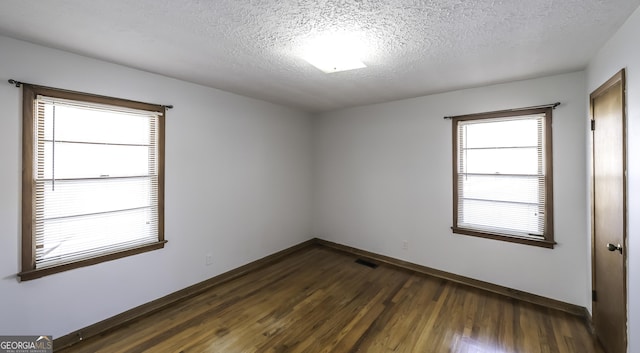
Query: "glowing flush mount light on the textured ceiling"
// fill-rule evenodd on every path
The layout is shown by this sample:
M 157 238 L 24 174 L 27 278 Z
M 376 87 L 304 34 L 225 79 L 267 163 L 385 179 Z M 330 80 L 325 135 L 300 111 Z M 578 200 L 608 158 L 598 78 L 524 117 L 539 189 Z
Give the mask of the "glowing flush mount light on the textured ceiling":
M 336 33 L 311 40 L 303 58 L 326 73 L 367 67 L 362 60 L 362 41 L 355 35 Z

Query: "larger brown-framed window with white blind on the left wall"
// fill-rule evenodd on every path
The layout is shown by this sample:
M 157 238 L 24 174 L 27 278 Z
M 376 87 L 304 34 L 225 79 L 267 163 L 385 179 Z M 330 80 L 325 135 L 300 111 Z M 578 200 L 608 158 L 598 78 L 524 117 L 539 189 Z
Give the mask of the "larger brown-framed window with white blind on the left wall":
M 22 280 L 164 246 L 164 107 L 23 90 Z

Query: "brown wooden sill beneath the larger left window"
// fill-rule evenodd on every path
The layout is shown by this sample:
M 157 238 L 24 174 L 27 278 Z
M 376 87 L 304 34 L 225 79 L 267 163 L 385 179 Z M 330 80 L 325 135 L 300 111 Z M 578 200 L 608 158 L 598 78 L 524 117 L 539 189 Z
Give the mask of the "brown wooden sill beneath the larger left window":
M 140 254 L 147 251 L 158 250 L 158 249 L 164 248 L 164 244 L 166 242 L 167 242 L 166 240 L 162 240 L 156 243 L 147 244 L 147 245 L 143 245 L 136 248 L 127 249 L 127 250 L 123 250 L 123 251 L 119 251 L 111 254 L 105 254 L 105 255 L 93 257 L 90 259 L 80 260 L 80 261 L 66 263 L 66 264 L 60 264 L 60 265 L 51 266 L 51 267 L 26 270 L 18 273 L 18 278 L 20 279 L 20 281 L 30 281 L 32 279 L 52 275 L 54 273 L 64 272 L 64 271 L 85 267 L 85 266 L 91 266 L 91 265 L 99 264 L 101 262 L 116 260 L 116 259 L 120 259 L 123 257 L 135 255 L 135 254 Z

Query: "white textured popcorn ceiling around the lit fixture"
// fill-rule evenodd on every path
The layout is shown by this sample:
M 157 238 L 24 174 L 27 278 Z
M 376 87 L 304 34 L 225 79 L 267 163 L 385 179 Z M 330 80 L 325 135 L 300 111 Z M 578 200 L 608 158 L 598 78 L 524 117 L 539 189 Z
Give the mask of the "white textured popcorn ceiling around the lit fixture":
M 0 34 L 311 112 L 579 70 L 640 0 L 2 0 Z M 365 69 L 301 56 L 327 34 Z

